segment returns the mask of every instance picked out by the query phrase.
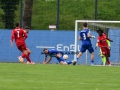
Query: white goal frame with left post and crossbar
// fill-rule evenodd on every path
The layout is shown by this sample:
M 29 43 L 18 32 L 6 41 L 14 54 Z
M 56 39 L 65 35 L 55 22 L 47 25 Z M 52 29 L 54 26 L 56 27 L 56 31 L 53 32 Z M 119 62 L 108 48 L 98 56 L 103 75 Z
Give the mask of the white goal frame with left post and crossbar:
M 77 54 L 76 52 L 78 51 L 78 23 L 120 23 L 120 21 L 101 21 L 101 20 L 75 20 L 75 54 L 74 54 L 74 59 L 76 59 Z M 87 58 L 87 54 L 86 54 Z

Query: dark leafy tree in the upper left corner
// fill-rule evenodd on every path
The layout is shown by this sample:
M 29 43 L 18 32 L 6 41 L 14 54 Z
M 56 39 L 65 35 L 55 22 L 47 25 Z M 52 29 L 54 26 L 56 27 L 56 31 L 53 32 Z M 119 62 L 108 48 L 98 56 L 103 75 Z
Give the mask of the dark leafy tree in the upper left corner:
M 19 0 L 0 0 L 0 5 L 4 12 L 2 21 L 7 29 L 14 28 L 15 10 L 18 8 L 18 4 Z

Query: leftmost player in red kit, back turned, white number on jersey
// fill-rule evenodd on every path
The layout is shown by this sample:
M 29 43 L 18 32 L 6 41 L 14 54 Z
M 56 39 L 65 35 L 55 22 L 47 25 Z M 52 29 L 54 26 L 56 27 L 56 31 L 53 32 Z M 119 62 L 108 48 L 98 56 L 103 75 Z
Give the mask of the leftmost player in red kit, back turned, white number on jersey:
M 15 23 L 15 26 L 16 26 L 16 28 L 12 30 L 10 43 L 13 46 L 13 40 L 15 39 L 17 48 L 22 52 L 22 55 L 18 57 L 20 62 L 24 63 L 23 58 L 26 58 L 30 64 L 34 64 L 33 62 L 31 62 L 31 60 L 29 58 L 27 46 L 25 43 L 27 34 L 25 33 L 25 31 L 22 28 L 19 27 L 19 23 Z

